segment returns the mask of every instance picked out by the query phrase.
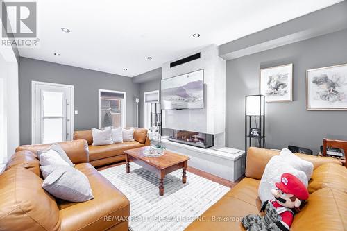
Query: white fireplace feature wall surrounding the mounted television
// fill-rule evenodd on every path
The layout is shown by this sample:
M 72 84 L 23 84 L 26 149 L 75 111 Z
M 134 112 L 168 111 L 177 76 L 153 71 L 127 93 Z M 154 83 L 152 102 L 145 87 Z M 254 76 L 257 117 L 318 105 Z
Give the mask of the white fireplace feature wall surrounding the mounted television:
M 201 53 L 201 58 L 170 68 L 171 62 L 198 52 Z M 216 137 L 220 137 L 221 140 L 217 143 L 223 146 L 223 134 L 226 127 L 226 61 L 219 57 L 218 46 L 210 45 L 176 60 L 163 65 L 162 79 L 203 69 L 204 108 L 163 110 L 162 127 L 219 134 Z

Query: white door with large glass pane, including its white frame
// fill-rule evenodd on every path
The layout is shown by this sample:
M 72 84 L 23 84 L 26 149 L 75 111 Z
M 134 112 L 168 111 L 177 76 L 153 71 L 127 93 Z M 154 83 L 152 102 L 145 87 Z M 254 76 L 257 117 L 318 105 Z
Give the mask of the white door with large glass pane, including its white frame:
M 74 86 L 32 82 L 32 143 L 71 140 Z

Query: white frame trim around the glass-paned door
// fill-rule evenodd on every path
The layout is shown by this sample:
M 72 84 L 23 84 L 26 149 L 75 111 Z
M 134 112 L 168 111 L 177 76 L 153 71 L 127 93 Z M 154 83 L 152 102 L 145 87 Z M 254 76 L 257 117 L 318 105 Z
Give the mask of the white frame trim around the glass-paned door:
M 60 83 L 49 83 L 40 81 L 31 81 L 31 144 L 35 143 L 35 85 L 49 85 L 53 87 L 68 87 L 71 90 L 71 140 L 74 139 L 74 85 Z

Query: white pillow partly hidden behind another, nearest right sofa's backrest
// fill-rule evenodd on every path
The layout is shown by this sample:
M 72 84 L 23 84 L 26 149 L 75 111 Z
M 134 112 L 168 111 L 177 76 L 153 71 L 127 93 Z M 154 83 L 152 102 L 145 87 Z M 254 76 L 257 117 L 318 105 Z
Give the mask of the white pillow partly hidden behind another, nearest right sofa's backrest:
M 313 173 L 313 164 L 307 160 L 301 159 L 301 157 L 298 157 L 294 155 L 289 149 L 283 148 L 280 152 L 280 157 L 285 160 L 286 163 L 290 164 L 294 167 L 294 169 L 298 169 L 300 171 L 303 171 L 306 176 L 307 180 L 311 179 L 312 173 Z

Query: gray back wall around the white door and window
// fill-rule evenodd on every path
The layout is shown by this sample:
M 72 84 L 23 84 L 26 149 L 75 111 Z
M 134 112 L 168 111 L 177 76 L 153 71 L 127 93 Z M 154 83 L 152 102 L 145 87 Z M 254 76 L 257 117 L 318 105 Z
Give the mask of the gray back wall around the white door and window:
M 29 58 L 19 60 L 20 144 L 31 144 L 31 81 L 74 85 L 74 130 L 98 127 L 98 89 L 126 92 L 126 126 L 135 126 L 139 84 L 132 78 Z

